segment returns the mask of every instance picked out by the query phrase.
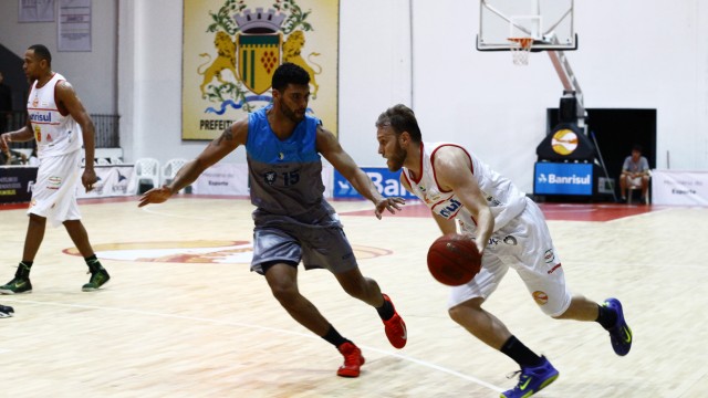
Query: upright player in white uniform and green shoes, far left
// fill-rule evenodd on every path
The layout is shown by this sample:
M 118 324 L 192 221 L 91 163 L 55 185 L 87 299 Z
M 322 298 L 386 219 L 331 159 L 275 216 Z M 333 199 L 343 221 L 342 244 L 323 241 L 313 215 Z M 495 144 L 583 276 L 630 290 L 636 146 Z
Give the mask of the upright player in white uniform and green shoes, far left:
M 86 164 L 81 184 L 90 191 L 96 182 L 93 122 L 71 84 L 52 71 L 52 55 L 46 46 L 30 46 L 24 53 L 22 67 L 32 84 L 27 103 L 28 123 L 19 130 L 2 134 L 0 146 L 4 148 L 12 142 L 35 139 L 40 166 L 28 210 L 30 221 L 22 261 L 14 279 L 0 286 L 0 293 L 32 291 L 30 270 L 44 238 L 46 219 L 54 227 L 64 224 L 91 272 L 91 280 L 82 290 L 94 291 L 111 276 L 96 259 L 76 203 L 82 145 Z

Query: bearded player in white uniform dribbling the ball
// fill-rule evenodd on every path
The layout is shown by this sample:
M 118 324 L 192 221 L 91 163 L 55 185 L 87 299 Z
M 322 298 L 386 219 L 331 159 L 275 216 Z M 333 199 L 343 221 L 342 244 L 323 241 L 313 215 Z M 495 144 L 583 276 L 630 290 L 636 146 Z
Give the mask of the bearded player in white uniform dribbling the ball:
M 448 312 L 469 333 L 521 367 L 519 384 L 502 397 L 530 397 L 559 375 L 545 357 L 524 346 L 482 308 L 509 268 L 519 273 L 546 315 L 596 321 L 610 332 L 617 355 L 629 352 L 632 331 L 620 301 L 607 298 L 598 305 L 571 295 L 543 213 L 509 179 L 459 145 L 423 143 L 416 117 L 405 105 L 382 113 L 376 128 L 378 153 L 388 169 L 403 169 L 402 184 L 430 208 L 442 233 L 456 232 L 457 220 L 482 254 L 481 271 L 469 283 L 451 289 Z

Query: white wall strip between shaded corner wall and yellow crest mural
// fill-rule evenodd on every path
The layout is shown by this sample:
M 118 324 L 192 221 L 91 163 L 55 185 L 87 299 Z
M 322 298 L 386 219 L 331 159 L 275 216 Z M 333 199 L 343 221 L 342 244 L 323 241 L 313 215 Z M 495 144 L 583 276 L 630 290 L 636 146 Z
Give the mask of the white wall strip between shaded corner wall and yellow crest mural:
M 142 157 L 157 158 L 160 164 L 171 158 L 190 159 L 205 146 L 181 142 L 183 7 L 175 3 L 119 2 L 118 113 L 127 161 Z

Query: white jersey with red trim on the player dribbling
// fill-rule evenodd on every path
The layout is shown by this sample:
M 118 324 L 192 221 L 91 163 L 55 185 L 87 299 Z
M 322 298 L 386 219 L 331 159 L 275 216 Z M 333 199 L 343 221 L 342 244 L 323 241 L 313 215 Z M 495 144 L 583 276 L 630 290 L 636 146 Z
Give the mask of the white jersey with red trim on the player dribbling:
M 481 163 L 477 156 L 456 144 L 421 143 L 421 176 L 415 180 L 410 170 L 403 168 L 403 176 L 413 189 L 413 193 L 420 198 L 434 212 L 445 219 L 457 218 L 464 230 L 473 233 L 477 223 L 469 210 L 459 200 L 455 191 L 444 191 L 435 178 L 434 160 L 436 151 L 444 146 L 458 147 L 469 156 L 472 175 L 487 199 L 487 203 L 494 217 L 494 231 L 503 228 L 510 220 L 519 216 L 525 207 L 525 196 L 507 178 Z

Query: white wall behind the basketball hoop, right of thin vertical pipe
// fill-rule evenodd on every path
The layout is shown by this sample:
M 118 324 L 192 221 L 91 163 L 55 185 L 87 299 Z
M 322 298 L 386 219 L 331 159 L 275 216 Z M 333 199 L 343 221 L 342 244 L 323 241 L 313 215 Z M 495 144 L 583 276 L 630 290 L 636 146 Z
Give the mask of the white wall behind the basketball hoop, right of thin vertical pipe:
M 562 85 L 545 53 L 512 65 L 478 52 L 479 2 L 414 0 L 414 105 L 424 139 L 468 145 L 531 191 L 545 109 Z M 575 1 L 566 52 L 589 108 L 656 108 L 657 167 L 708 168 L 708 4 L 701 0 Z

